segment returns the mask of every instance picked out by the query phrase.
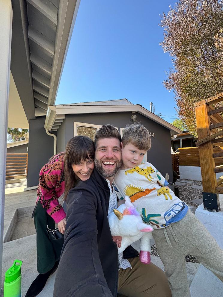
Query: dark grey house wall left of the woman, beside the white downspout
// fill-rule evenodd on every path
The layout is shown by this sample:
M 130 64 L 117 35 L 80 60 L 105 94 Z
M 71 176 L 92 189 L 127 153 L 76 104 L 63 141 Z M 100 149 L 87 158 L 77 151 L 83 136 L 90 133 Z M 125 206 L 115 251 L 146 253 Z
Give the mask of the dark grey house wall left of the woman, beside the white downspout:
M 54 138 L 46 134 L 45 116 L 29 121 L 27 187 L 38 185 L 40 169 L 53 155 Z

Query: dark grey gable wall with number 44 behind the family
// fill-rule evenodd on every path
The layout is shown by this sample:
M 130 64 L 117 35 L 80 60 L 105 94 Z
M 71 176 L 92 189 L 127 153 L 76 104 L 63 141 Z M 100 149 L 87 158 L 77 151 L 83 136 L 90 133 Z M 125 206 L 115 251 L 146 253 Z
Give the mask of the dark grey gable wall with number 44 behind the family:
M 137 122 L 140 122 L 155 135 L 155 137 L 151 137 L 152 147 L 150 151 L 147 152 L 147 161 L 156 166 L 164 177 L 165 174 L 168 173 L 169 181 L 172 182 L 170 130 L 139 113 L 135 114 L 137 115 Z M 74 136 L 74 122 L 94 125 L 111 124 L 118 128 L 124 128 L 127 124 L 132 123 L 130 119 L 131 116 L 131 112 L 66 115 L 66 119 L 63 122 L 64 126 L 62 127 L 61 125 L 58 129 L 58 134 L 65 134 L 65 142 L 62 143 L 61 141 L 59 144 L 60 150 L 64 150 L 67 141 Z

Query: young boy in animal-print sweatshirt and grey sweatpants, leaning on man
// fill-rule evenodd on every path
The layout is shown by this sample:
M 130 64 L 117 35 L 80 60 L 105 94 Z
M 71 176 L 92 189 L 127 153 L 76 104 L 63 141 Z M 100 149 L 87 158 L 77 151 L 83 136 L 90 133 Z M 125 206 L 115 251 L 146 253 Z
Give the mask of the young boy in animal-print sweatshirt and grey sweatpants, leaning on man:
M 160 172 L 151 163 L 142 163 L 150 147 L 149 132 L 143 125 L 123 130 L 123 165 L 114 176 L 117 195 L 120 199 L 129 196 L 143 221 L 153 225 L 172 297 L 189 297 L 185 256 L 194 255 L 223 281 L 223 251 L 188 206 L 166 187 Z

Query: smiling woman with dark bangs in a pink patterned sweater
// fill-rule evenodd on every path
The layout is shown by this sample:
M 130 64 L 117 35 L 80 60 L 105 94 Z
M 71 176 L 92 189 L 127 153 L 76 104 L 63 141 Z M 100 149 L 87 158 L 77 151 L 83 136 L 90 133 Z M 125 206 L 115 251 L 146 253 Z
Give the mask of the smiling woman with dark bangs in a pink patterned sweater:
M 66 213 L 58 198 L 63 193 L 66 197 L 79 180 L 88 180 L 93 169 L 94 142 L 89 137 L 76 136 L 68 141 L 65 152 L 50 158 L 40 170 L 37 204 L 33 212 L 37 231 L 39 275 L 32 282 L 25 297 L 37 296 L 49 276 L 57 269 L 61 247 L 53 247 L 47 234 L 47 226 L 54 229 L 57 223 L 59 231 L 64 234 Z

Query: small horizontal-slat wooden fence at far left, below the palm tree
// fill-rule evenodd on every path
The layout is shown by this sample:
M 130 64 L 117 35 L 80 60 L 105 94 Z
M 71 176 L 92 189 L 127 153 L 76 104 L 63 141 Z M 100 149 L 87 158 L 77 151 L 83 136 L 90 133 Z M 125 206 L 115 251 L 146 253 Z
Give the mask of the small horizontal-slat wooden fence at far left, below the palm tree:
M 16 175 L 27 176 L 28 154 L 7 154 L 6 178 L 15 178 Z

